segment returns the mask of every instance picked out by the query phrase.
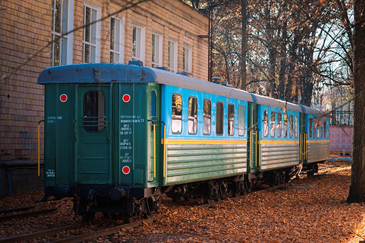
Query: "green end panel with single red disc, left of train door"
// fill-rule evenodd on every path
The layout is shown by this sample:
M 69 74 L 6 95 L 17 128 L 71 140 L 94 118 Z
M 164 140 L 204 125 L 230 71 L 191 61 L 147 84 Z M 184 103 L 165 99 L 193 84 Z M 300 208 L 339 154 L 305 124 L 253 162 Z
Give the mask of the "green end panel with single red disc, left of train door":
M 61 101 L 61 95 L 67 95 Z M 74 85 L 45 85 L 45 186 L 74 182 Z

